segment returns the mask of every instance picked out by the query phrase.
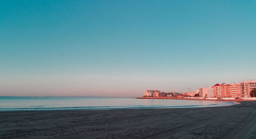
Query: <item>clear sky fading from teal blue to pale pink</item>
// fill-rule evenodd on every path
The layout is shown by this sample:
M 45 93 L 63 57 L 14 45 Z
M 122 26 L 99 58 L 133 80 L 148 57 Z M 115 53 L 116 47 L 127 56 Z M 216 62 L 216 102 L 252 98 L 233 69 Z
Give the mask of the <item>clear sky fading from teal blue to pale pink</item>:
M 256 1 L 1 1 L 0 96 L 139 97 L 256 79 Z

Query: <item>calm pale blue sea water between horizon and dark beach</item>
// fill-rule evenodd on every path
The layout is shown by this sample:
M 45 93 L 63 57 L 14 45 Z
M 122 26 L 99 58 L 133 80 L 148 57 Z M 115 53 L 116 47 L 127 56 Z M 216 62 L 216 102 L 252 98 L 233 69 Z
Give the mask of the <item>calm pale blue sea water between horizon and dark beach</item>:
M 0 97 L 0 111 L 192 108 L 229 106 L 223 101 L 88 97 Z

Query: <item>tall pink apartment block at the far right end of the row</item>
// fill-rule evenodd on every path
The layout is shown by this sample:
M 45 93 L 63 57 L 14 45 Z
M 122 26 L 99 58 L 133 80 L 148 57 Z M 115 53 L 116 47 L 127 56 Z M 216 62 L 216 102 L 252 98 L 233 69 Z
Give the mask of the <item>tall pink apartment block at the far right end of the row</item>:
M 250 91 L 256 88 L 256 81 L 254 80 L 247 80 L 240 82 L 241 85 L 241 97 L 242 98 L 249 98 L 250 97 Z

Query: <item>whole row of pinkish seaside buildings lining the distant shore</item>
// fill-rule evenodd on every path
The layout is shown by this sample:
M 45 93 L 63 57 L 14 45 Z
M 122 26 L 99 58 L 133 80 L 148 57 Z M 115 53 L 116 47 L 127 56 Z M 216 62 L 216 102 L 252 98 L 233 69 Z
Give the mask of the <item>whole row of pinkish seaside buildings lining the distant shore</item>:
M 256 97 L 256 81 L 247 80 L 240 83 L 217 83 L 211 87 L 195 89 L 192 92 L 163 92 L 160 90 L 145 90 L 144 98 L 180 97 L 180 98 L 252 98 Z

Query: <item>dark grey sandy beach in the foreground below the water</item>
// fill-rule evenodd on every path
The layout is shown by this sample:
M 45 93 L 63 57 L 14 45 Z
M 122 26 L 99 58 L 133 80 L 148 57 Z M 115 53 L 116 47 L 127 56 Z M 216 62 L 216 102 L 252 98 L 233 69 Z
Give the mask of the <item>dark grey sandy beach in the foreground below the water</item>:
M 2 111 L 0 138 L 256 138 L 255 108 Z

